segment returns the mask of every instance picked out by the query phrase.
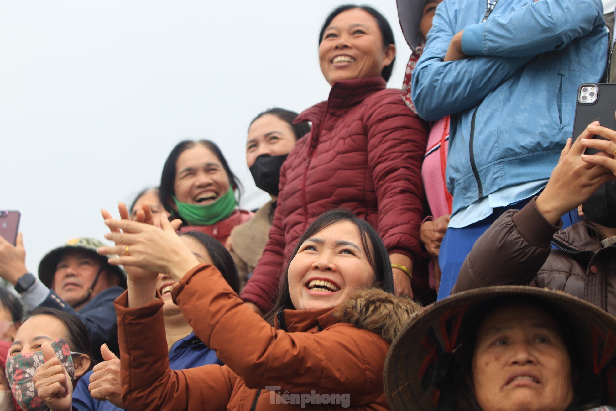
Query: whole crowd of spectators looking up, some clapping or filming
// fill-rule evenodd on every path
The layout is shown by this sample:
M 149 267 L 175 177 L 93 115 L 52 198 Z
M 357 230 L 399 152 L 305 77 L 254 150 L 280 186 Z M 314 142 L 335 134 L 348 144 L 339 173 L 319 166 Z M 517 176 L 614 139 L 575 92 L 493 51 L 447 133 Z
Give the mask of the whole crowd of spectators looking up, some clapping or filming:
M 0 237 L 0 410 L 616 410 L 616 130 L 572 136 L 616 4 L 398 5 L 400 88 L 390 23 L 348 4 L 328 99 L 247 121 L 258 210 L 184 140 L 109 243 L 36 276 Z

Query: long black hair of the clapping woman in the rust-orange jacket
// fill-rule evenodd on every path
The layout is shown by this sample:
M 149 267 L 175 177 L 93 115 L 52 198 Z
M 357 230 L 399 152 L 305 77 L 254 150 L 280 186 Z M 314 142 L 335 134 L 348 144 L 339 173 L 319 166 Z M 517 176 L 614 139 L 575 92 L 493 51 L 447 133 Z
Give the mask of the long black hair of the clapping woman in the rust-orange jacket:
M 336 210 L 326 211 L 321 214 L 315 221 L 310 224 L 304 234 L 299 238 L 298 245 L 293 250 L 289 264 L 286 265 L 285 272 L 282 274 L 280 281 L 280 288 L 278 289 L 278 296 L 274 308 L 267 313 L 265 319 L 273 324 L 276 313 L 280 310 L 295 309 L 293 302 L 291 301 L 291 295 L 289 293 L 289 265 L 293 258 L 299 251 L 308 238 L 314 237 L 319 231 L 326 229 L 332 224 L 336 224 L 339 221 L 350 221 L 359 230 L 359 235 L 362 238 L 362 246 L 366 251 L 368 262 L 375 272 L 376 281 L 380 283 L 381 289 L 388 293 L 394 293 L 394 275 L 391 271 L 391 262 L 389 262 L 389 255 L 387 254 L 387 248 L 383 244 L 383 240 L 379 237 L 376 230 L 366 221 L 355 216 L 351 210 L 345 208 L 338 208 Z

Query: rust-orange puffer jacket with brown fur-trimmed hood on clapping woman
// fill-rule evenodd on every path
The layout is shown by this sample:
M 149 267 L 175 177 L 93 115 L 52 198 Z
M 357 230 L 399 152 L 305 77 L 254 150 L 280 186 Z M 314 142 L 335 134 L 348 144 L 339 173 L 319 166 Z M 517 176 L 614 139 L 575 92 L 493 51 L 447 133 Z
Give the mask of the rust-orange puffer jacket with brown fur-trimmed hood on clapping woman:
M 289 402 L 302 394 L 339 394 L 342 404 L 319 409 L 338 410 L 348 400 L 349 409 L 386 410 L 387 349 L 420 308 L 371 288 L 335 309 L 285 310 L 271 327 L 205 264 L 188 272 L 172 296 L 195 335 L 226 365 L 169 369 L 162 301 L 131 309 L 124 293 L 115 304 L 122 396 L 130 410 L 299 409 Z

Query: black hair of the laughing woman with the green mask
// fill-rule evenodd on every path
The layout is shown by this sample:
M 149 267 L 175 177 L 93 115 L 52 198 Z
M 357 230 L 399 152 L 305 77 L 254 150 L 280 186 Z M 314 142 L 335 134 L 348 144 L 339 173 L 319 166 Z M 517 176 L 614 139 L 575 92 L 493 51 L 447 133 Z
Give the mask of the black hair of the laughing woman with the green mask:
M 160 187 L 158 188 L 158 198 L 160 198 L 160 203 L 163 205 L 164 209 L 167 210 L 171 217 L 169 219 L 179 218 L 182 219 L 179 214 L 177 214 L 176 210 L 174 210 L 171 206 L 171 198 L 175 195 L 174 184 L 176 182 L 176 163 L 177 158 L 180 157 L 180 154 L 184 153 L 188 149 L 192 149 L 197 144 L 203 145 L 206 149 L 211 151 L 218 161 L 221 162 L 222 168 L 227 173 L 229 177 L 229 184 L 233 187 L 233 190 L 236 192 L 237 200 L 240 200 L 241 190 L 243 189 L 240 179 L 238 179 L 233 171 L 229 168 L 229 163 L 227 163 L 227 159 L 222 155 L 221 149 L 210 140 L 184 140 L 180 141 L 176 147 L 173 147 L 171 153 L 169 153 L 169 157 L 164 162 L 163 166 L 163 174 L 160 177 Z M 184 221 L 182 219 L 182 221 Z

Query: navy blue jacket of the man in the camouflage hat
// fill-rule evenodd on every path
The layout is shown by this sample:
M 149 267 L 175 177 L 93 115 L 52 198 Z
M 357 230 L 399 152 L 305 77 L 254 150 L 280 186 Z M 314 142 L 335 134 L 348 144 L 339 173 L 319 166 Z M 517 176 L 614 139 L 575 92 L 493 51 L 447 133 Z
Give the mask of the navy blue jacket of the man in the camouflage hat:
M 123 292 L 124 288 L 120 286 L 107 288 L 88 301 L 79 311 L 75 311 L 53 290 L 49 290 L 49 295 L 40 306 L 66 311 L 78 317 L 86 325 L 90 334 L 94 359 L 102 361 L 100 346 L 103 343 L 106 343 L 109 349 L 116 354 L 120 352 L 118 348 L 118 315 L 115 312 L 115 307 L 113 307 L 113 300 Z

